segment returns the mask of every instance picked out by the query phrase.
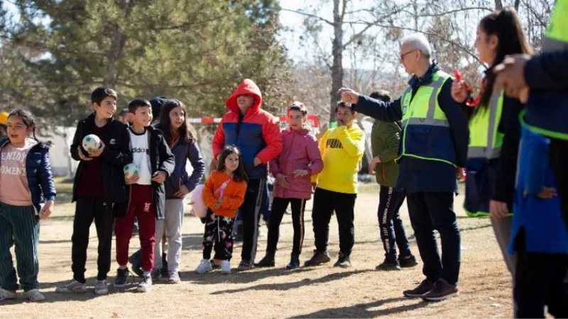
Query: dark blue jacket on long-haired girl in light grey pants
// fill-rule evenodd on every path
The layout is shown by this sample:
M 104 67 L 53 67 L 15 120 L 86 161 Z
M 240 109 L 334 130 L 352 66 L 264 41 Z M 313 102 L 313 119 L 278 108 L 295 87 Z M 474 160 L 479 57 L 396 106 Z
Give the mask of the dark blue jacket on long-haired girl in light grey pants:
M 175 167 L 170 178 L 165 181 L 165 198 L 178 198 L 173 196 L 175 192 L 180 190 L 182 185 L 193 191 L 197 184 L 200 184 L 205 172 L 205 162 L 201 156 L 199 147 L 195 143 L 182 144 L 178 140 L 171 149 L 175 155 Z M 193 172 L 191 176 L 187 174 L 187 159 L 190 160 Z

